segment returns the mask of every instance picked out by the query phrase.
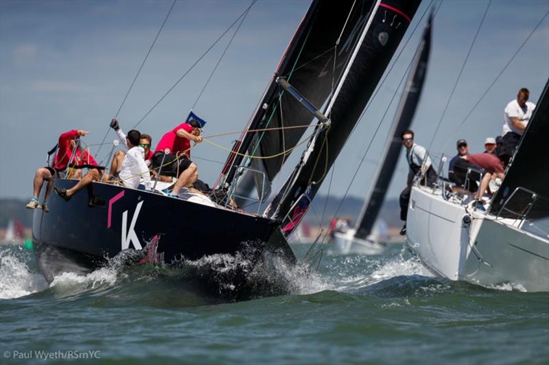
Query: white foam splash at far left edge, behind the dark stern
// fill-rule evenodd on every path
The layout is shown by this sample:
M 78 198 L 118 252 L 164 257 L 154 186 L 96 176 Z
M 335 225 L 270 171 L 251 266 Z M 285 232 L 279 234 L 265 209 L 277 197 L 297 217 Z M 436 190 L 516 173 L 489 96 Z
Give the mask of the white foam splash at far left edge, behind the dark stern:
M 28 263 L 32 254 L 23 247 L 3 247 L 0 251 L 0 299 L 25 297 L 47 288 L 40 273 L 35 273 Z

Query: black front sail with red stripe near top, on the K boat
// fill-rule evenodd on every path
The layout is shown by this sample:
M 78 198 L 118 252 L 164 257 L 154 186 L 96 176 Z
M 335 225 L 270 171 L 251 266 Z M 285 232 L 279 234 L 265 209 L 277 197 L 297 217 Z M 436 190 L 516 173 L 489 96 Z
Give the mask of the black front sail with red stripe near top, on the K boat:
M 330 123 L 318 123 L 316 134 L 309 140 L 299 164 L 266 210 L 267 216 L 288 223 L 283 228 L 285 236 L 299 223 L 334 164 L 404 36 L 419 2 L 376 1 L 369 8 L 369 2 L 360 1 L 352 8 L 349 24 L 344 27 L 341 36 L 342 43 L 349 45 L 351 53 L 324 112 Z M 299 90 L 295 83 L 293 86 Z M 299 107 L 303 108 L 302 105 Z

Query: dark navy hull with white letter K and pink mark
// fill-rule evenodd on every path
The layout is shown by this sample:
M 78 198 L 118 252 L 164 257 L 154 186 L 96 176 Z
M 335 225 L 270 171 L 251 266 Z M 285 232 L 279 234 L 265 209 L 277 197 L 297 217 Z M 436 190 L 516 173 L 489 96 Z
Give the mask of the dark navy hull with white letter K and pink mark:
M 75 184 L 55 182 L 62 188 Z M 63 272 L 99 268 L 126 249 L 154 250 L 145 259 L 168 265 L 250 248 L 256 259 L 268 250 L 295 262 L 277 231 L 277 221 L 261 216 L 94 182 L 70 201 L 52 192 L 49 212 L 34 211 L 32 239 L 40 269 L 51 281 Z M 149 244 L 153 241 L 157 245 Z

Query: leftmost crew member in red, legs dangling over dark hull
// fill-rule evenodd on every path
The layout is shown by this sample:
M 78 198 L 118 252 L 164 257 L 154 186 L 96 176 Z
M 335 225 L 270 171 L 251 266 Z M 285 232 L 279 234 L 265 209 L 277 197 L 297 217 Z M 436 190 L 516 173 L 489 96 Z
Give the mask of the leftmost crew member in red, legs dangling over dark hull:
M 82 149 L 80 146 L 73 155 L 76 140 L 86 136 L 86 134 L 89 134 L 89 132 L 81 129 L 73 129 L 71 131 L 66 131 L 59 136 L 58 151 L 54 158 L 54 164 L 52 166 L 38 168 L 34 174 L 34 197 L 25 205 L 27 208 L 36 209 L 40 207 L 40 203 L 38 203 L 38 194 L 40 194 L 40 189 L 42 188 L 44 181 L 47 181 L 48 183 L 41 208 L 44 212 L 49 211 L 48 199 L 49 194 L 51 193 L 51 187 L 54 186 L 54 178 L 59 177 L 60 173 L 67 170 L 69 162 L 76 166 L 82 166 L 84 164 L 97 166 L 97 162 L 95 162 L 88 151 Z M 79 177 L 80 174 L 81 171 L 79 170 L 75 175 Z

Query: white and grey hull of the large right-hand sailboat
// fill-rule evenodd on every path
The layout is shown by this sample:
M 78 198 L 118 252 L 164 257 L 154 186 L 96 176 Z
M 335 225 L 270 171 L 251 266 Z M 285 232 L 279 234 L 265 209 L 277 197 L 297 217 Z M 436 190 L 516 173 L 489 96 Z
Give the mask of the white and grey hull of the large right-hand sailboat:
M 464 216 L 472 218 L 469 224 Z M 406 235 L 412 251 L 435 275 L 482 286 L 549 291 L 547 237 L 523 231 L 514 219 L 496 220 L 446 201 L 440 190 L 412 188 Z

